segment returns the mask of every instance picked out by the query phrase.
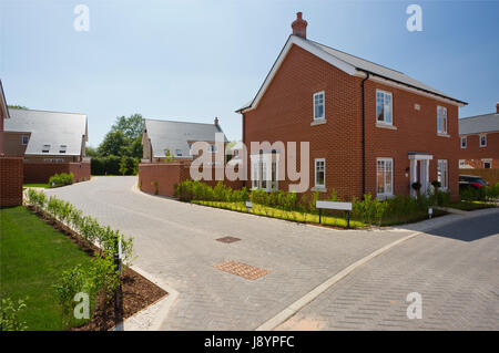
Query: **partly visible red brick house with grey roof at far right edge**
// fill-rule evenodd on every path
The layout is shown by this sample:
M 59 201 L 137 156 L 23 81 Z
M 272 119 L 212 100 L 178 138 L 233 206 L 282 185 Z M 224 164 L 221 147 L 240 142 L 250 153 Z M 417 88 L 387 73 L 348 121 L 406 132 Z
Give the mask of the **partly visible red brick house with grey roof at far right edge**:
M 459 168 L 499 169 L 499 103 L 496 113 L 459 120 Z

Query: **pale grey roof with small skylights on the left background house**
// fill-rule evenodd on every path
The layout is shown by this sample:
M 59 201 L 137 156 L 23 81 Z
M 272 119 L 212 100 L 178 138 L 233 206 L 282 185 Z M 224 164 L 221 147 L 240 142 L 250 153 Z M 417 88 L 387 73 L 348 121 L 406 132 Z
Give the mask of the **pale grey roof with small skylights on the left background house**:
M 32 110 L 9 108 L 6 132 L 31 133 L 26 155 L 79 156 L 83 137 L 88 138 L 86 115 Z M 42 153 L 50 145 L 48 153 Z M 60 153 L 65 145 L 65 153 Z

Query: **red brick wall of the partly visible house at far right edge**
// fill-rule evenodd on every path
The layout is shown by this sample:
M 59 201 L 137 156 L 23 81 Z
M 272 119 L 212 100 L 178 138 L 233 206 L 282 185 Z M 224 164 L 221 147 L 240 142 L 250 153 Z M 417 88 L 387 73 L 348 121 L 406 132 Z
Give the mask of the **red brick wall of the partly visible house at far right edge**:
M 479 135 L 467 135 L 466 148 L 459 148 L 459 159 L 473 168 L 483 168 L 482 159 L 491 159 L 491 168 L 499 169 L 499 133 L 487 134 L 487 146 L 480 147 Z

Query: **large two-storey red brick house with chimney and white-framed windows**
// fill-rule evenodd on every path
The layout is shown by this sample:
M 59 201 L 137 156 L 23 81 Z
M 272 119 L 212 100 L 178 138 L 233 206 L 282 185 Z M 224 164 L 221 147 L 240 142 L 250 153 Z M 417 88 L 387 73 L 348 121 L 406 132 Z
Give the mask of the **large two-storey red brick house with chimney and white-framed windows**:
M 467 103 L 308 40 L 301 12 L 292 28 L 256 96 L 237 110 L 247 148 L 251 142 L 309 142 L 308 191 L 383 198 L 416 195 L 415 181 L 426 191 L 438 179 L 457 198 L 458 108 Z M 269 153 L 279 150 L 259 152 Z M 293 184 L 287 176 L 279 180 L 274 162 L 255 160 L 249 152 L 253 188 L 287 190 Z M 255 180 L 262 169 L 273 170 L 271 180 Z

